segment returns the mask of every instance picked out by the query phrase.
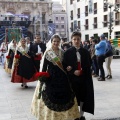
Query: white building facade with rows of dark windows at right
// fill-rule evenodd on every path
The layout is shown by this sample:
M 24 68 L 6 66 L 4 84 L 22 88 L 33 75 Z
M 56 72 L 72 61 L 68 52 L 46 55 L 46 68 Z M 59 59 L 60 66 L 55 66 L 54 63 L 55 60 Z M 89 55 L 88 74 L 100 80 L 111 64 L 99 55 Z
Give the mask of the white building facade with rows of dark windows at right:
M 91 36 L 97 38 L 103 33 L 109 38 L 110 27 L 111 38 L 120 38 L 120 0 L 66 0 L 66 2 L 69 39 L 75 30 L 81 31 L 82 40 L 88 40 Z

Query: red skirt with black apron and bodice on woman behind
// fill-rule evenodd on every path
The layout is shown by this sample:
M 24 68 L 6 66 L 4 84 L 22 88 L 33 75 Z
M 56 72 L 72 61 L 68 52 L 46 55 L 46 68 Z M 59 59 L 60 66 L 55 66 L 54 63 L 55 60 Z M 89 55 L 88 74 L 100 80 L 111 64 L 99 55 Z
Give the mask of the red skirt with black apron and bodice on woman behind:
M 22 52 L 17 50 L 17 55 L 20 55 L 18 64 L 14 65 L 14 70 L 12 74 L 12 82 L 23 83 L 23 82 L 32 82 L 36 80 L 36 68 L 31 58 L 23 55 Z M 27 54 L 30 56 L 29 51 Z M 16 58 L 15 58 L 16 59 Z

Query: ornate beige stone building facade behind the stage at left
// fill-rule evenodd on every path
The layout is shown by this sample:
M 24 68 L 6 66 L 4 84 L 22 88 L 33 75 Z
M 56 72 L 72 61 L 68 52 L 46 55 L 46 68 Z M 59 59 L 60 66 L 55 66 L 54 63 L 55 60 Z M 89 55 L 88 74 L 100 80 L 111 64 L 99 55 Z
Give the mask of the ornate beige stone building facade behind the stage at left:
M 39 33 L 46 40 L 52 14 L 52 0 L 0 0 L 0 25 L 24 26 L 29 33 Z

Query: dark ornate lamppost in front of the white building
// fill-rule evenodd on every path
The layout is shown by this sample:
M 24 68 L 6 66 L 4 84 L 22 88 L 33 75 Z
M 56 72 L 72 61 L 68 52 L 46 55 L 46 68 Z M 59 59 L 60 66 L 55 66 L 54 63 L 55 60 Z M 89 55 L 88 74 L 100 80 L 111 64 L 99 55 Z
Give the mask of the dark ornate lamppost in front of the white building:
M 109 29 L 109 39 L 111 39 L 112 30 L 114 29 L 114 27 L 113 27 L 113 22 L 114 22 L 113 12 L 119 12 L 119 8 L 116 5 L 109 3 L 107 0 L 104 0 L 104 3 L 105 3 L 105 6 L 107 6 L 110 9 L 108 29 Z M 114 7 L 114 9 L 112 9 L 113 7 Z

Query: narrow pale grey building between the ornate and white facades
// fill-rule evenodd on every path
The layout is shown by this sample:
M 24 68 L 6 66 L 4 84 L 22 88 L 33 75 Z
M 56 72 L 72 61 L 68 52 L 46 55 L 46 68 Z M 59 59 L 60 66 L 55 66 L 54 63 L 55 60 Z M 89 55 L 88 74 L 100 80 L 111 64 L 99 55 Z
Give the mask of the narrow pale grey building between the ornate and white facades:
M 67 13 L 59 2 L 52 5 L 53 23 L 56 26 L 55 32 L 62 38 L 67 38 Z

